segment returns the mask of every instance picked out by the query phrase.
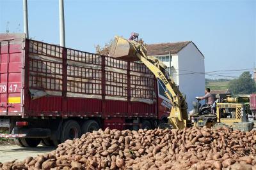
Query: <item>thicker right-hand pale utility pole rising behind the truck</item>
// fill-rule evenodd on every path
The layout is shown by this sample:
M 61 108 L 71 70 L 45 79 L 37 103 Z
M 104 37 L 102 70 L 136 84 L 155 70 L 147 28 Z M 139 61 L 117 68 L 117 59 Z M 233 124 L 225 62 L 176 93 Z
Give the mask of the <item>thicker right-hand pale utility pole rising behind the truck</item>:
M 60 16 L 60 46 L 65 47 L 65 21 L 64 21 L 63 0 L 59 0 L 59 16 Z

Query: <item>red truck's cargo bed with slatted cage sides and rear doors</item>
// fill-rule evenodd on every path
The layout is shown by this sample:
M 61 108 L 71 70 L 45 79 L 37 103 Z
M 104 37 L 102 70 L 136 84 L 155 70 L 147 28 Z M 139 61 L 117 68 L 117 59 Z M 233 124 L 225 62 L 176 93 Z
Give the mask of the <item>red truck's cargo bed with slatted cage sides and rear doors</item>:
M 157 117 L 143 64 L 0 34 L 0 115 Z

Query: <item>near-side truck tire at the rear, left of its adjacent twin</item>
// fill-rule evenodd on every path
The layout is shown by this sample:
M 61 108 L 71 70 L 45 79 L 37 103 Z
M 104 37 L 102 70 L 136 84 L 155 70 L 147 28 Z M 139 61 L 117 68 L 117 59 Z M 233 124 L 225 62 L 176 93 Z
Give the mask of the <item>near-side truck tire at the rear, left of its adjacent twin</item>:
M 63 129 L 61 131 L 61 143 L 65 142 L 67 139 L 73 140 L 74 138 L 81 137 L 81 128 L 75 120 L 68 120 L 64 123 Z

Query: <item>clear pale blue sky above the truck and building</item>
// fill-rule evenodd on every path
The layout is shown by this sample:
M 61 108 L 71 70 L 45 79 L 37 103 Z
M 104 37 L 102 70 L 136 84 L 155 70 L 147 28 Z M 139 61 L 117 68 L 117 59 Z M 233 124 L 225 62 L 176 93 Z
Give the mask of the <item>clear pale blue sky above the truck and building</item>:
M 59 43 L 58 0 L 28 0 L 29 36 Z M 7 22 L 9 24 L 7 24 Z M 22 0 L 0 0 L 0 32 L 23 32 Z M 66 46 L 95 52 L 115 35 L 145 43 L 193 41 L 205 71 L 252 69 L 256 1 L 65 1 Z M 238 76 L 241 71 L 228 71 Z M 209 77 L 209 76 L 207 76 Z M 212 77 L 216 78 L 216 77 Z

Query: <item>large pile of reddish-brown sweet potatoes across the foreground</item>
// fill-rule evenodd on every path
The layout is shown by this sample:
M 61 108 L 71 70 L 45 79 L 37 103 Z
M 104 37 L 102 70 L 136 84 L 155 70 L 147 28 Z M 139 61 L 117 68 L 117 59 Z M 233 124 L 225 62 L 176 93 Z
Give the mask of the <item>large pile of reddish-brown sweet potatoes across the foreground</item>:
M 0 169 L 256 169 L 256 131 L 105 129 Z

